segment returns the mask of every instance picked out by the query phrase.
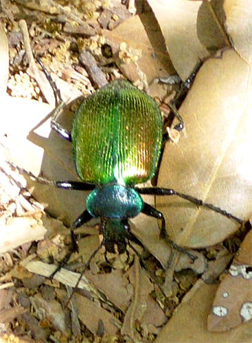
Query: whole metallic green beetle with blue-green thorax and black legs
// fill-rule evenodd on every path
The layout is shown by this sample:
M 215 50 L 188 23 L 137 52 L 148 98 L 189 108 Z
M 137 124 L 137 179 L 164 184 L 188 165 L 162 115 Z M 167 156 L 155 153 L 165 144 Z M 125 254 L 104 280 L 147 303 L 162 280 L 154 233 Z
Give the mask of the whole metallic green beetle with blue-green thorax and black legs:
M 38 62 L 56 98 L 51 129 L 71 142 L 76 173 L 82 181 L 52 181 L 26 173 L 47 185 L 91 192 L 86 200 L 86 209 L 71 228 L 73 232 L 93 217 L 100 218 L 103 239 L 89 257 L 85 268 L 89 267 L 91 259 L 102 246 L 105 246 L 106 252 L 115 252 L 115 246 L 119 254 L 126 252 L 131 235 L 128 219 L 139 213 L 160 220 L 160 237 L 170 241 L 162 213 L 144 202 L 141 195 L 179 196 L 242 224 L 242 220 L 231 213 L 174 189 L 137 187 L 137 184 L 152 179 L 157 172 L 163 142 L 163 121 L 159 107 L 144 91 L 126 80 L 106 84 L 82 100 L 74 115 L 72 130 L 68 132 L 57 122 L 66 104 L 42 62 Z M 180 123 L 175 128 L 181 130 L 182 126 L 183 123 Z M 172 246 L 179 248 L 173 243 Z

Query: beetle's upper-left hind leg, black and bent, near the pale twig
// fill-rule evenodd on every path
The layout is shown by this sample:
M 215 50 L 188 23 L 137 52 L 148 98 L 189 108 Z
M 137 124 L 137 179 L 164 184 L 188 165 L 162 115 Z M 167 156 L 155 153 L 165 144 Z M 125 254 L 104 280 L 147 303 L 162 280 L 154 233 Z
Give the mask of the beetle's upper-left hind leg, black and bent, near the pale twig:
M 43 70 L 43 73 L 45 74 L 45 77 L 47 78 L 47 81 L 49 82 L 52 90 L 54 91 L 56 108 L 52 112 L 51 129 L 57 132 L 60 135 L 60 137 L 67 139 L 67 141 L 71 142 L 71 132 L 68 132 L 65 128 L 62 128 L 62 126 L 57 122 L 58 117 L 61 115 L 66 104 L 61 97 L 60 90 L 56 86 L 56 83 L 54 82 L 54 80 L 52 80 L 51 75 L 48 73 L 47 69 L 45 69 L 44 64 L 41 62 L 41 59 L 37 58 L 36 60 L 40 64 Z

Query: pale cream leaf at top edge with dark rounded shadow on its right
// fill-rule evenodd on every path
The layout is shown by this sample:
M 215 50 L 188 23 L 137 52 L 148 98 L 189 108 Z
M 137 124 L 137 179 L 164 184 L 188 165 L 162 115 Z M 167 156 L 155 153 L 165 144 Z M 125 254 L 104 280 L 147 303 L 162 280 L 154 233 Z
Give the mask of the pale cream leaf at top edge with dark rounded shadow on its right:
M 181 80 L 189 78 L 201 60 L 230 46 L 218 23 L 221 1 L 148 0 L 148 3 Z

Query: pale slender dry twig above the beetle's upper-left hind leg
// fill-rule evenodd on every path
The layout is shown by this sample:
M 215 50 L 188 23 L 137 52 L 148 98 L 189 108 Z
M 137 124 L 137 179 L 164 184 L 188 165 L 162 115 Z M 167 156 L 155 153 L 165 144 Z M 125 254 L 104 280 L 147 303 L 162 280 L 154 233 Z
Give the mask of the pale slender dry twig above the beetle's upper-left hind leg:
M 30 38 L 29 38 L 28 29 L 27 29 L 27 24 L 24 19 L 21 19 L 21 21 L 19 21 L 19 27 L 23 35 L 23 42 L 25 44 L 25 52 L 27 54 L 27 58 L 29 61 L 29 68 L 27 69 L 27 74 L 36 80 L 39 88 L 41 88 L 41 91 L 43 95 L 45 96 L 45 99 L 47 99 L 47 102 L 49 102 L 49 104 L 54 106 L 55 99 L 54 99 L 53 93 L 49 91 L 49 86 L 47 86 L 47 80 L 45 78 L 45 75 L 36 66 L 36 63 L 32 54 L 32 48 L 30 45 Z

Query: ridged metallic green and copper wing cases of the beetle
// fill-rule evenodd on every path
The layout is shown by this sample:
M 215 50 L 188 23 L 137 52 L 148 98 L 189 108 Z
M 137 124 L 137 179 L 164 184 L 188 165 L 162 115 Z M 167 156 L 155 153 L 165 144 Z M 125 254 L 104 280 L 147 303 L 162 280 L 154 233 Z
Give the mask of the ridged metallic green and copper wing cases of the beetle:
M 84 182 L 124 185 L 152 178 L 163 123 L 154 100 L 124 80 L 84 99 L 73 119 L 73 158 Z

